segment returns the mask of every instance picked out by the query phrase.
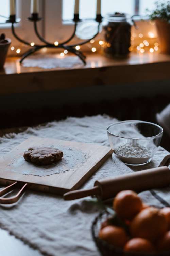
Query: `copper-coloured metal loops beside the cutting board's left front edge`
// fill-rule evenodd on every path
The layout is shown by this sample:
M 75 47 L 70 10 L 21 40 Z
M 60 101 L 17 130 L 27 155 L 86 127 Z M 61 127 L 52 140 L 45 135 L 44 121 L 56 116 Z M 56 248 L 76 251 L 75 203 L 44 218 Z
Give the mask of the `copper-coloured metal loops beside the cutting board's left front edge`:
M 26 190 L 27 183 L 23 185 L 23 187 L 19 190 L 16 196 L 4 198 L 2 196 L 6 195 L 8 192 L 12 191 L 14 188 L 17 188 L 17 181 L 13 184 L 9 185 L 8 187 L 5 187 L 4 189 L 0 190 L 0 204 L 12 204 L 16 203 L 19 198 L 22 196 L 24 191 Z

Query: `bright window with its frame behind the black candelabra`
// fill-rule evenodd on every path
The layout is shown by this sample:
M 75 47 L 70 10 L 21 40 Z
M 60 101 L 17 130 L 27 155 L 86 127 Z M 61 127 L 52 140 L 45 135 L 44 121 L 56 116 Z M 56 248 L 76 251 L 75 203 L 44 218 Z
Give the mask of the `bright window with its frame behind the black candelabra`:
M 80 0 L 80 18 L 95 18 L 96 1 Z M 9 15 L 9 2 L 9 0 L 0 0 L 0 15 Z M 32 22 L 27 20 L 30 16 L 30 2 L 30 0 L 16 0 L 17 15 L 21 17 L 21 22 L 15 24 L 16 31 L 22 39 L 39 43 Z M 102 15 L 113 12 L 145 15 L 146 8 L 150 10 L 154 8 L 154 2 L 155 0 L 102 0 Z M 65 40 L 73 30 L 73 23 L 70 20 L 73 18 L 74 0 L 39 0 L 39 4 L 40 16 L 43 17 L 43 20 L 38 22 L 40 33 L 51 42 Z M 0 17 L 0 32 L 4 32 L 7 37 L 11 38 L 14 46 L 20 46 L 20 43 L 12 36 L 11 25 L 2 24 L 5 20 Z

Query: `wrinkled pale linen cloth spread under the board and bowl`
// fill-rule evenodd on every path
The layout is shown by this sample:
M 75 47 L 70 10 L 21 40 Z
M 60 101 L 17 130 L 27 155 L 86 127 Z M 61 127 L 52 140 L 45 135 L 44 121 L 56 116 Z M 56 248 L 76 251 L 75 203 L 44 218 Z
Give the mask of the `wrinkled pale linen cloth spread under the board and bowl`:
M 109 116 L 67 118 L 51 122 L 45 126 L 28 128 L 19 134 L 8 134 L 0 138 L 1 156 L 11 151 L 29 136 L 98 143 L 109 146 L 106 127 L 116 122 Z M 136 169 L 159 166 L 169 152 L 159 147 L 153 160 Z M 94 182 L 105 177 L 131 173 L 130 169 L 116 157 L 110 157 L 84 184 L 92 188 Z M 145 191 L 139 194 L 151 205 L 165 206 L 170 203 L 170 188 Z M 64 201 L 61 196 L 26 191 L 15 205 L 0 205 L 0 227 L 41 253 L 51 256 L 99 256 L 91 237 L 91 223 L 99 209 L 91 204 L 91 197 L 74 201 Z

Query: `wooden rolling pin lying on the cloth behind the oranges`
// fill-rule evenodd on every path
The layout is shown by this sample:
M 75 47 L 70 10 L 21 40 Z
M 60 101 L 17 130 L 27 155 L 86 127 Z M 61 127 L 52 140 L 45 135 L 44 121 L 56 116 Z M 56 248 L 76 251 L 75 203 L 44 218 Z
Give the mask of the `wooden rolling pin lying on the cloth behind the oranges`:
M 170 170 L 167 166 L 133 172 L 117 177 L 95 181 L 94 188 L 75 190 L 64 194 L 65 200 L 96 196 L 101 200 L 113 198 L 122 190 L 141 192 L 170 185 Z

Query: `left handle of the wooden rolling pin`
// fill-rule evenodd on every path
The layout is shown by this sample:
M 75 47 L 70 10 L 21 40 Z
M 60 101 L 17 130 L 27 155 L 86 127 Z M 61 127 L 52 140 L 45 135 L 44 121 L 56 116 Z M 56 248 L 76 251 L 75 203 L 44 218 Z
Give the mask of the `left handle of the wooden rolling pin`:
M 79 190 L 74 190 L 70 191 L 64 194 L 64 200 L 75 200 L 87 196 L 100 196 L 101 190 L 98 186 L 95 186 L 92 189 L 79 189 Z

